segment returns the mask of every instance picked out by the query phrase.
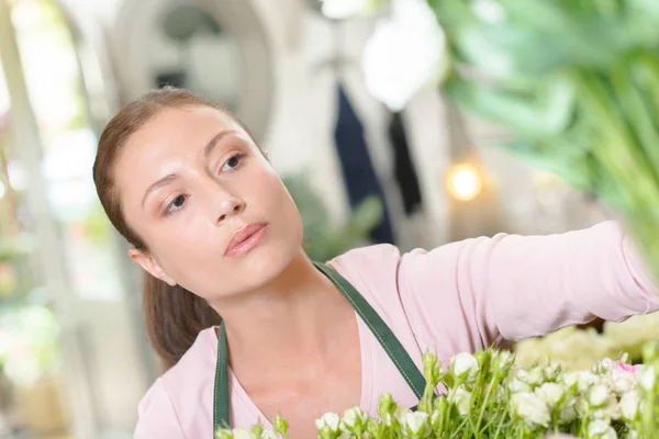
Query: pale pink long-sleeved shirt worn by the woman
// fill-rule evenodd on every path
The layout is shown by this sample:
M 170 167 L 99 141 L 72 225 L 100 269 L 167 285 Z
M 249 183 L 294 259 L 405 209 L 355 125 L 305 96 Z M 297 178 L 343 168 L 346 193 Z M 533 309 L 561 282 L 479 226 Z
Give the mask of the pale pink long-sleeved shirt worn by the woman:
M 331 264 L 378 312 L 422 368 L 429 348 L 440 360 L 501 338 L 518 340 L 595 316 L 622 320 L 659 309 L 656 290 L 618 225 L 522 237 L 498 235 L 401 255 L 390 245 L 351 250 Z M 405 406 L 414 396 L 387 352 L 359 322 L 360 406 L 377 415 L 390 392 Z M 136 439 L 212 438 L 217 340 L 199 334 L 179 363 L 139 404 Z M 230 372 L 232 427 L 258 419 L 271 428 Z

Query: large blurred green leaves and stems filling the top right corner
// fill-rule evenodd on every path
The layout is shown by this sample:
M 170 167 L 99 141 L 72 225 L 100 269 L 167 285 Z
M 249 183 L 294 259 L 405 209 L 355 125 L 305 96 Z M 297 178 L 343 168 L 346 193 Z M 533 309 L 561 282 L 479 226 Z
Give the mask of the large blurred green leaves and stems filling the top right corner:
M 659 1 L 428 0 L 443 88 L 619 212 L 659 280 Z

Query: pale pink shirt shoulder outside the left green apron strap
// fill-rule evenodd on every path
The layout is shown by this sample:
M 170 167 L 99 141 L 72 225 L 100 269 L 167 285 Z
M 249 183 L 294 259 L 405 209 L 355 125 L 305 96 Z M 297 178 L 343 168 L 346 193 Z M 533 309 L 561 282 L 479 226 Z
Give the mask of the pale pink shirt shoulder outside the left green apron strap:
M 179 362 L 154 382 L 139 403 L 135 438 L 156 437 L 154 434 L 160 429 L 170 435 L 166 437 L 185 437 L 181 426 L 194 424 L 190 414 L 199 415 L 199 410 L 208 406 L 204 404 L 206 398 L 212 407 L 214 340 L 214 328 L 199 333 Z M 180 434 L 177 436 L 175 432 Z

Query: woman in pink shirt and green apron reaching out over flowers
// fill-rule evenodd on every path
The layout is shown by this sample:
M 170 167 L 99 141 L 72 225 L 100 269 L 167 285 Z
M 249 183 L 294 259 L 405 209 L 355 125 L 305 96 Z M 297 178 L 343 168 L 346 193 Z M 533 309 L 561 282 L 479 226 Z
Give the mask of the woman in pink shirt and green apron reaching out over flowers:
M 247 130 L 183 90 L 121 110 L 93 176 L 146 271 L 146 327 L 169 369 L 141 403 L 137 439 L 210 439 L 214 425 L 270 427 L 277 413 L 291 438 L 315 437 L 323 413 L 375 414 L 386 391 L 416 405 L 426 349 L 447 360 L 659 308 L 612 222 L 429 252 L 380 245 L 314 266 L 295 204 Z

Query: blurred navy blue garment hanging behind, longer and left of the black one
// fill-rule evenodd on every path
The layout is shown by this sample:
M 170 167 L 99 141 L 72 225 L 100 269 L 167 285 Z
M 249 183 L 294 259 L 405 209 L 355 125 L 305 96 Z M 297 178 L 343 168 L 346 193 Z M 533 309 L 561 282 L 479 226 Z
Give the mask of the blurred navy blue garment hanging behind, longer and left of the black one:
M 350 104 L 343 85 L 338 83 L 337 91 L 338 104 L 334 140 L 348 201 L 350 206 L 355 207 L 368 196 L 379 198 L 383 204 L 382 222 L 371 232 L 370 238 L 377 244 L 394 244 L 389 209 L 370 159 L 364 126 Z

